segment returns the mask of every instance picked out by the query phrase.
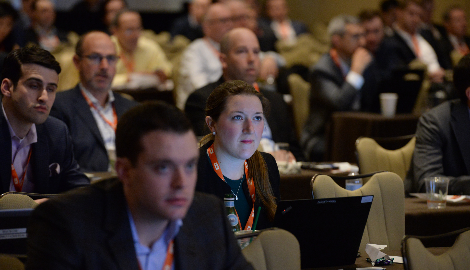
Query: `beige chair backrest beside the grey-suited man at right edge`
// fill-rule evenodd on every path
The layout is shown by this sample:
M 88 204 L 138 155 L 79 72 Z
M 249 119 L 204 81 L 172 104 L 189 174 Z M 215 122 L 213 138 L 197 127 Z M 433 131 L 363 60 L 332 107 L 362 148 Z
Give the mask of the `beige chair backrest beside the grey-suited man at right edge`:
M 415 143 L 416 138 L 413 137 L 404 147 L 387 150 L 378 145 L 374 139 L 357 139 L 356 150 L 360 173 L 386 170 L 398 174 L 404 180 L 411 165 Z

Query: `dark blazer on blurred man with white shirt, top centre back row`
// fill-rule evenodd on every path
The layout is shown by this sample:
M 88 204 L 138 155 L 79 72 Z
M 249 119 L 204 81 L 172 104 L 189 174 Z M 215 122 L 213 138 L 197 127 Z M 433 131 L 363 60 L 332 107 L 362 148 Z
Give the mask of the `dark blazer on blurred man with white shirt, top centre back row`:
M 297 36 L 300 34 L 308 33 L 308 27 L 305 23 L 300 21 L 291 20 L 292 28 L 296 32 Z M 259 47 L 262 52 L 276 51 L 277 37 L 271 28 L 271 20 L 267 18 L 258 19 L 258 39 Z

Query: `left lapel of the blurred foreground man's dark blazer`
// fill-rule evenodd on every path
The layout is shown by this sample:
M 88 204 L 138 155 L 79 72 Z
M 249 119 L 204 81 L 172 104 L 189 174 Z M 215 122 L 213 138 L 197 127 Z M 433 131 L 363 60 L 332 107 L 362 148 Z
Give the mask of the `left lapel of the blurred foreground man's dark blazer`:
M 139 270 L 126 209 L 123 187 L 118 182 L 108 190 L 106 197 L 104 226 L 109 232 L 110 253 L 121 270 Z

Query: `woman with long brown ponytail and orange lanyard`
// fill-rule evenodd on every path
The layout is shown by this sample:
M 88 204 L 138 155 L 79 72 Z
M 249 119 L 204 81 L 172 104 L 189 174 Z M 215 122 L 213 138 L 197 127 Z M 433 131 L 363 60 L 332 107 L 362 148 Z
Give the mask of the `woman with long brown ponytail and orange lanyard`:
M 251 230 L 261 207 L 257 229 L 272 227 L 280 200 L 279 171 L 271 154 L 258 152 L 269 104 L 244 81 L 227 81 L 211 93 L 206 124 L 211 133 L 200 142 L 196 191 L 235 196 L 243 230 Z

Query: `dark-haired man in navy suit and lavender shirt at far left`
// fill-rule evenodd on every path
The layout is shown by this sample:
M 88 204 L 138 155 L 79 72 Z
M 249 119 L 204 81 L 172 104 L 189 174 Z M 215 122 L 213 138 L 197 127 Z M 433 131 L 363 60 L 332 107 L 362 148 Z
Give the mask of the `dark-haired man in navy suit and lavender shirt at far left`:
M 88 185 L 64 123 L 49 116 L 61 68 L 38 47 L 12 51 L 1 75 L 0 193 L 60 193 Z

